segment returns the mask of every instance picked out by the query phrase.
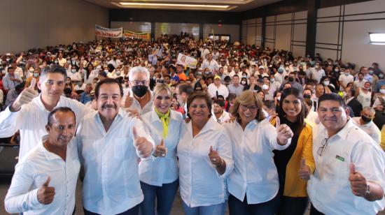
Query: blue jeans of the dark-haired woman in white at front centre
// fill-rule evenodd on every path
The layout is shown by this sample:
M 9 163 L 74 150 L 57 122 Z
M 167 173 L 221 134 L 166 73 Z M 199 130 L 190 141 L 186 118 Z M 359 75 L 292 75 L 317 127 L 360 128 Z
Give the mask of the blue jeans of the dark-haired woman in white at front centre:
M 223 202 L 218 205 L 189 207 L 182 200 L 183 211 L 185 212 L 185 215 L 224 215 L 226 203 L 227 202 Z

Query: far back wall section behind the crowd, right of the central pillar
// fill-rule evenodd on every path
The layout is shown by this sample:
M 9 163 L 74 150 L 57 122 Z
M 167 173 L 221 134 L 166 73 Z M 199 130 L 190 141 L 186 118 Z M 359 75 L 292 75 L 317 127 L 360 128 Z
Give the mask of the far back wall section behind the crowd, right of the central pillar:
M 230 34 L 230 42 L 239 41 L 239 25 L 238 24 L 204 24 L 203 25 L 203 38 L 207 38 L 209 34 L 212 34 L 214 29 L 215 34 Z

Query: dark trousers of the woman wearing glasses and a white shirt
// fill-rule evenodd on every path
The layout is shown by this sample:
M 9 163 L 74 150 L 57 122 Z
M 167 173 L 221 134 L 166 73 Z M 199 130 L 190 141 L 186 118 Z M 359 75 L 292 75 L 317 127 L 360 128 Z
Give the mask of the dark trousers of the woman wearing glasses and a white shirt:
M 230 194 L 228 204 L 230 215 L 274 215 L 278 207 L 278 195 L 267 202 L 262 202 L 259 204 L 248 204 L 246 195 L 244 200 L 241 201 L 234 195 Z

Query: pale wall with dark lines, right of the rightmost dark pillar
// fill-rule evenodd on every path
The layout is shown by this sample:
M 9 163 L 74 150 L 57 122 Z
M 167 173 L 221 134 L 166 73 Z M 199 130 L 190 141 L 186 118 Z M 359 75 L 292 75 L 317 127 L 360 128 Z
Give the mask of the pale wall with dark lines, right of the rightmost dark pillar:
M 368 32 L 385 33 L 384 11 L 384 0 L 319 9 L 316 52 L 324 58 L 341 58 L 344 62 L 356 63 L 358 67 L 371 66 L 372 62 L 377 62 L 384 71 L 385 46 L 371 45 L 368 34 Z M 363 15 L 354 15 L 357 13 Z

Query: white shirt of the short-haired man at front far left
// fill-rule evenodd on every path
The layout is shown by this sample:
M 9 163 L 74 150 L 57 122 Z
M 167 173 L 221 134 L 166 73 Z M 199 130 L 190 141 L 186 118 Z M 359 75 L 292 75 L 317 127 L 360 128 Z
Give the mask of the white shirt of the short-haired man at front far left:
M 40 142 L 15 167 L 10 188 L 4 200 L 8 213 L 72 214 L 75 208 L 76 181 L 80 163 L 76 143 L 67 145 L 66 161 L 43 147 Z M 38 202 L 37 191 L 50 177 L 48 186 L 55 188 L 53 202 Z

